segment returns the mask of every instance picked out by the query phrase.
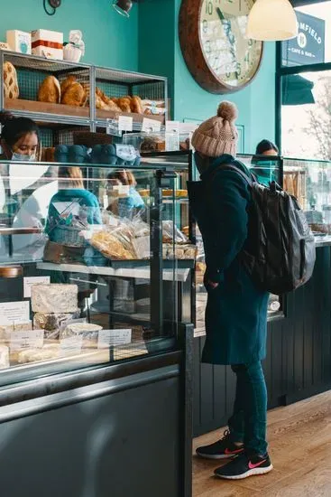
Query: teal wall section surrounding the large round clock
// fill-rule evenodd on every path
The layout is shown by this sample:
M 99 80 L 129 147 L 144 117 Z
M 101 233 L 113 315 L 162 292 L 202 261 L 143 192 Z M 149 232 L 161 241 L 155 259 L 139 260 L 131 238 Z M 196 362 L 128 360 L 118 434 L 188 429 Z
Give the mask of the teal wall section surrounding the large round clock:
M 212 95 L 193 80 L 183 60 L 178 36 L 181 0 L 144 0 L 139 5 L 139 70 L 170 78 L 172 116 L 206 119 L 216 114 L 222 98 L 238 106 L 237 124 L 244 129 L 244 152 L 253 153 L 262 138 L 275 138 L 275 46 L 265 45 L 262 67 L 246 89 L 228 96 Z

